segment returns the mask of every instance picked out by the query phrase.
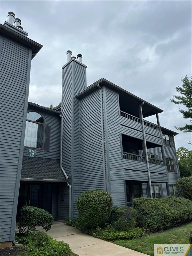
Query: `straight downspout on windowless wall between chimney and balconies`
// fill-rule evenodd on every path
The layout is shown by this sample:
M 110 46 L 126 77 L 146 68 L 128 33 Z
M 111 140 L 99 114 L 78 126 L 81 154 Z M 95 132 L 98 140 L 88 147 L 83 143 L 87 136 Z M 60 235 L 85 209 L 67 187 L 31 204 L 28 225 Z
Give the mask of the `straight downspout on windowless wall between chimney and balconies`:
M 100 89 L 100 102 L 101 102 L 101 136 L 102 136 L 102 155 L 103 155 L 103 181 L 104 181 L 104 190 L 107 190 L 106 187 L 106 171 L 105 171 L 105 142 L 104 142 L 104 125 L 103 125 L 103 91 L 102 87 L 98 84 L 97 87 Z

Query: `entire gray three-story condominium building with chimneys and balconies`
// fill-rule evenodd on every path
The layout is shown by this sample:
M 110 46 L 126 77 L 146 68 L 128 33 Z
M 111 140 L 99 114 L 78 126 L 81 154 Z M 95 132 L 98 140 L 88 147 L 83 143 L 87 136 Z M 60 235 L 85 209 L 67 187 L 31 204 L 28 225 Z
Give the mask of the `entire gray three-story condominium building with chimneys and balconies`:
M 114 206 L 177 196 L 177 133 L 160 126 L 163 110 L 104 78 L 87 87 L 82 55 L 71 51 L 62 67 L 62 103 L 51 109 L 28 102 L 30 62 L 42 45 L 14 18 L 9 13 L 0 25 L 2 242 L 14 242 L 24 205 L 65 221 L 78 217 L 76 199 L 90 189 L 108 191 Z M 157 124 L 145 120 L 152 115 Z

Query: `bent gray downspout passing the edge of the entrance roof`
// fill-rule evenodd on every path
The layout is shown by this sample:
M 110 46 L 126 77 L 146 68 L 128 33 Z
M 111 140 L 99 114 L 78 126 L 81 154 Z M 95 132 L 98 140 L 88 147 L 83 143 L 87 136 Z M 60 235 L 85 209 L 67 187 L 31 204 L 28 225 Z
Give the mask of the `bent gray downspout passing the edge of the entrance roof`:
M 63 167 L 62 167 L 62 152 L 63 152 L 63 116 L 61 114 L 59 114 L 59 116 L 61 117 L 61 138 L 60 138 L 60 168 L 63 172 L 63 174 L 65 175 L 66 180 L 68 180 L 68 176 L 66 174 L 66 172 L 64 171 Z M 69 184 L 69 182 L 67 182 L 67 186 L 69 187 L 69 221 L 71 220 L 71 185 Z

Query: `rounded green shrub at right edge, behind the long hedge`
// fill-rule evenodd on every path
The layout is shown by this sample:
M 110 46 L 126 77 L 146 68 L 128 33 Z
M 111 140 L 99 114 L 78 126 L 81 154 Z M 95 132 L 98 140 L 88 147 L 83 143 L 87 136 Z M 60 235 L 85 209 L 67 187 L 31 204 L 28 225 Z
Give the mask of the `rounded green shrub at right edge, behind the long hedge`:
M 191 200 L 192 197 L 192 177 L 183 177 L 177 180 L 176 188 L 180 196 Z

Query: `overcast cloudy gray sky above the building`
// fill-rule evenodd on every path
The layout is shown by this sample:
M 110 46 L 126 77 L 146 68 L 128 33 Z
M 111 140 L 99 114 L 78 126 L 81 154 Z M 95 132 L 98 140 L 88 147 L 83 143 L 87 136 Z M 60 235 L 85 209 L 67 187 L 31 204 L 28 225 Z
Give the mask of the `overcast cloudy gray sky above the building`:
M 87 85 L 106 78 L 164 109 L 161 126 L 176 131 L 186 122 L 170 99 L 191 76 L 191 1 L 0 1 L 0 23 L 8 11 L 43 45 L 32 60 L 29 101 L 61 101 L 61 67 L 72 50 L 83 54 Z M 187 141 L 179 131 L 176 148 L 190 149 Z

